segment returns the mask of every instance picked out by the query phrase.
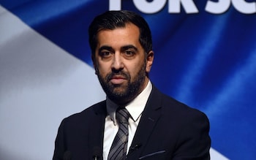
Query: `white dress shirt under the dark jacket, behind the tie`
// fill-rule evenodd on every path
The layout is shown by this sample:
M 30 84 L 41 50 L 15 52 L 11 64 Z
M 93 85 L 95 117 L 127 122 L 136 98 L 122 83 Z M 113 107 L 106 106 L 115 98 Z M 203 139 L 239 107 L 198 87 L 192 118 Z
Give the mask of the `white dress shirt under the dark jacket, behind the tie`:
M 146 102 L 148 101 L 148 96 L 151 93 L 152 84 L 148 81 L 146 88 L 135 98 L 132 102 L 127 104 L 126 108 L 132 118 L 129 118 L 129 137 L 127 144 L 127 152 L 129 151 L 129 147 L 132 144 L 132 139 L 135 135 L 138 123 L 140 121 L 141 114 L 146 106 Z M 105 118 L 105 130 L 104 130 L 104 141 L 103 141 L 103 160 L 108 159 L 108 153 L 110 151 L 112 142 L 118 132 L 118 123 L 116 123 L 116 109 L 118 105 L 112 102 L 107 97 L 107 111 L 108 115 Z

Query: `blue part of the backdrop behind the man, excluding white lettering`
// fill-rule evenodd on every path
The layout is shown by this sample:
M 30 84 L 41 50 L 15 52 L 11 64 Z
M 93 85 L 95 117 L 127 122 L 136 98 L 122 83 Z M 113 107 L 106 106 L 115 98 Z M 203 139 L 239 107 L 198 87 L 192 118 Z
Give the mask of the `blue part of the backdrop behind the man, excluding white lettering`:
M 255 1 L 250 1 L 255 2 Z M 170 3 L 170 1 L 169 1 Z M 228 159 L 256 157 L 256 15 L 230 5 L 222 14 L 152 14 L 121 1 L 121 9 L 143 15 L 151 27 L 154 65 L 151 81 L 165 94 L 202 110 L 211 123 L 212 148 Z M 68 53 L 91 65 L 87 28 L 109 1 L 4 1 L 0 4 Z M 1 23 L 1 22 L 0 22 Z

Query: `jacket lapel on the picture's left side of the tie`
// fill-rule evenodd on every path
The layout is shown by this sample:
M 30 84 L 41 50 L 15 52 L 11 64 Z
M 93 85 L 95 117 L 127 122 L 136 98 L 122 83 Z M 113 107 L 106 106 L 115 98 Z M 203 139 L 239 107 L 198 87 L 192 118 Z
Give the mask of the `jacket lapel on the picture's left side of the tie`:
M 96 104 L 93 112 L 89 129 L 89 159 L 94 156 L 99 156 L 98 159 L 102 159 L 105 117 L 107 114 L 106 102 Z

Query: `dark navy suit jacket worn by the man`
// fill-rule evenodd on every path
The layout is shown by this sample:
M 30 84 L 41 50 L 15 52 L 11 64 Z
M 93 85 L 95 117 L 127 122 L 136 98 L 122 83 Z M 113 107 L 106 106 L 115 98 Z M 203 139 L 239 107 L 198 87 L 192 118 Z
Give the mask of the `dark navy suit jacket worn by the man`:
M 103 101 L 64 118 L 53 159 L 90 160 L 95 156 L 102 159 L 106 115 Z M 209 122 L 204 113 L 162 94 L 153 86 L 127 159 L 210 159 L 208 132 Z

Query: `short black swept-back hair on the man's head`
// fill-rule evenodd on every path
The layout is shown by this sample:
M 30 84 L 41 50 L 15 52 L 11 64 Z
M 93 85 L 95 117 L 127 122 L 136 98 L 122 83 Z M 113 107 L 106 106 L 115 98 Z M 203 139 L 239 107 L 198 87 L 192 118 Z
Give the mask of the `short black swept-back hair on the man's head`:
M 125 27 L 127 23 L 132 23 L 140 29 L 139 42 L 146 53 L 152 50 L 151 30 L 146 20 L 136 12 L 128 10 L 107 11 L 98 15 L 92 20 L 89 26 L 89 45 L 91 54 L 95 56 L 97 47 L 97 34 L 99 31 Z

